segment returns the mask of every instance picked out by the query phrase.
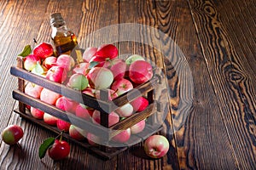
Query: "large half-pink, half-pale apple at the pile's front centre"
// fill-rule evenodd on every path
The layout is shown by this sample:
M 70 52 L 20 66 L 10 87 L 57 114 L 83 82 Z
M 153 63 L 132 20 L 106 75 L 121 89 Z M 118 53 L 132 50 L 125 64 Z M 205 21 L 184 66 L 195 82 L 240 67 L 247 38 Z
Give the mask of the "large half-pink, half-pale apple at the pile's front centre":
M 90 69 L 87 78 L 90 88 L 103 89 L 108 88 L 113 82 L 113 73 L 105 67 L 93 67 Z

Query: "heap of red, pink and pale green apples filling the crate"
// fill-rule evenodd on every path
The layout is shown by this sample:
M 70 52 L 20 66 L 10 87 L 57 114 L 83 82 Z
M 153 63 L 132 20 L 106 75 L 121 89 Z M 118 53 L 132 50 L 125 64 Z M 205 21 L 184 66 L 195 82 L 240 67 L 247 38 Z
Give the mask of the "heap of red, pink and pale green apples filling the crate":
M 86 48 L 82 58 L 83 62 L 79 63 L 68 54 L 55 57 L 51 44 L 42 42 L 33 48 L 32 53 L 24 58 L 23 63 L 24 69 L 27 71 L 79 90 L 96 99 L 100 99 L 101 89 L 107 89 L 108 99 L 113 100 L 137 85 L 147 82 L 154 75 L 152 65 L 140 55 L 133 54 L 127 59 L 119 59 L 118 49 L 113 44 L 103 44 L 98 48 Z M 32 82 L 26 84 L 25 93 L 87 121 L 101 122 L 99 111 Z M 116 111 L 109 113 L 109 127 L 135 112 L 145 110 L 147 106 L 148 99 L 141 96 L 119 107 Z M 42 119 L 45 123 L 58 127 L 61 131 L 68 132 L 73 139 L 88 139 L 90 144 L 97 144 L 100 140 L 100 137 L 87 133 L 86 129 L 80 129 L 69 122 L 44 113 L 44 111 L 39 111 L 37 108 L 29 106 L 28 108 L 33 117 Z M 131 134 L 142 132 L 144 127 L 145 120 L 117 134 L 112 140 L 124 143 L 130 139 Z

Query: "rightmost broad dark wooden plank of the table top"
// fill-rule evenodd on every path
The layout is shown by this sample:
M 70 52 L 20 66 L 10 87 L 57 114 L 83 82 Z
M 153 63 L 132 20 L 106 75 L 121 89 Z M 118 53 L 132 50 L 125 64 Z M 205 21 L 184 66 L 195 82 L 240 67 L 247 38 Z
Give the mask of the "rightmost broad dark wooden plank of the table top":
M 253 13 L 248 14 L 248 22 L 241 20 L 241 13 L 244 13 L 242 11 L 255 9 L 255 2 L 241 2 L 237 6 L 231 1 L 225 1 L 221 3 L 222 5 L 216 1 L 189 1 L 189 3 L 237 167 L 255 169 L 255 70 L 253 63 L 247 63 L 248 60 L 253 59 L 251 53 L 255 52 L 255 38 L 253 39 L 255 36 L 251 30 L 255 27 L 251 18 Z M 224 9 L 225 6 L 230 6 L 228 7 L 230 9 Z M 237 17 L 234 16 L 233 11 L 237 11 Z M 227 12 L 231 16 L 225 16 Z M 232 21 L 235 18 L 240 18 L 237 20 L 239 22 Z M 247 32 L 243 34 L 232 28 L 249 25 L 250 27 L 245 30 Z M 231 33 L 232 31 L 234 32 Z M 236 33 L 237 36 L 241 36 L 240 41 L 247 39 L 246 46 L 249 47 L 237 44 L 234 36 Z M 241 49 L 247 50 L 248 60 L 243 59 Z

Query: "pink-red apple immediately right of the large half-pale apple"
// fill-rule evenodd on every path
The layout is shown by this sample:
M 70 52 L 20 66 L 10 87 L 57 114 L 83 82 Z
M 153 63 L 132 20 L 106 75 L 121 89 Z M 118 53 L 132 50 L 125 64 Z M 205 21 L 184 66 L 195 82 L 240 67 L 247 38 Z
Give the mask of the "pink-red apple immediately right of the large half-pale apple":
M 113 80 L 125 77 L 126 64 L 123 59 L 113 59 L 110 61 L 110 71 L 113 73 Z

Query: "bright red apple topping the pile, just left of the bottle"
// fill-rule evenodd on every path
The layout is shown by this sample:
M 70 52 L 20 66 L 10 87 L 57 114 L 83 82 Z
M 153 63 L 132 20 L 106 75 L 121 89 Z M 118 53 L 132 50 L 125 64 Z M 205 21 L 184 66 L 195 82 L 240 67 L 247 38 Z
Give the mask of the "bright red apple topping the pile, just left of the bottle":
M 33 54 L 38 55 L 41 59 L 46 59 L 53 53 L 54 48 L 47 42 L 41 42 L 33 49 Z

